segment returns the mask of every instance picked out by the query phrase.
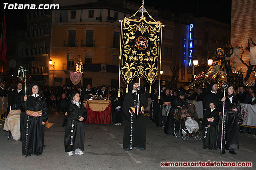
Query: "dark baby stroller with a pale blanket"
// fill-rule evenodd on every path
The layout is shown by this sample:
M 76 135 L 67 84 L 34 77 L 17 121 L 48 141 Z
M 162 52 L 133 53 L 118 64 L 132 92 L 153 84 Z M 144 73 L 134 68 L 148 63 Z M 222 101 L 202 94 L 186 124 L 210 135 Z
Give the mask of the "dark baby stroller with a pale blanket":
M 176 138 L 182 135 L 183 141 L 188 141 L 189 137 L 195 137 L 196 141 L 202 140 L 202 136 L 198 131 L 198 122 L 195 121 L 195 119 L 198 119 L 198 115 L 194 104 L 185 104 L 182 106 L 175 118 L 176 121 L 178 119 L 180 122 L 180 128 L 175 132 Z

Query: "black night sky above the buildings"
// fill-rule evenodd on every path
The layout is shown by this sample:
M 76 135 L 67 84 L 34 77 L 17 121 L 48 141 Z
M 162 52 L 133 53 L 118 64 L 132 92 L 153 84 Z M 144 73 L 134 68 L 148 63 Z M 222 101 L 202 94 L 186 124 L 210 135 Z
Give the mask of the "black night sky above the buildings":
M 140 2 L 140 0 L 131 1 Z M 4 0 L 4 3 L 9 4 L 25 4 L 25 2 L 25 0 Z M 225 23 L 230 23 L 231 20 L 231 0 L 144 0 L 144 4 L 145 6 L 154 6 L 155 9 L 168 8 L 176 16 L 179 13 L 192 13 L 197 17 L 206 16 Z M 3 4 L 0 5 L 0 8 L 4 9 Z M 7 30 L 17 27 L 25 30 L 24 14 L 26 14 L 26 10 L 6 10 Z M 3 11 L 0 12 L 0 16 L 2 23 Z

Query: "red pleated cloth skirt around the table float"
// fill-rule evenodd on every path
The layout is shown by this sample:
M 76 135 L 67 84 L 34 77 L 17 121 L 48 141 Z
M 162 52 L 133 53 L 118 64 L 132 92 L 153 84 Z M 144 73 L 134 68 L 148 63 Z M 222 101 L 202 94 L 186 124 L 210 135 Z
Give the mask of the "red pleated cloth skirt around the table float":
M 112 114 L 111 114 L 111 105 L 104 111 L 92 111 L 89 104 L 86 105 L 87 118 L 85 123 L 94 123 L 94 124 L 111 124 L 112 123 Z

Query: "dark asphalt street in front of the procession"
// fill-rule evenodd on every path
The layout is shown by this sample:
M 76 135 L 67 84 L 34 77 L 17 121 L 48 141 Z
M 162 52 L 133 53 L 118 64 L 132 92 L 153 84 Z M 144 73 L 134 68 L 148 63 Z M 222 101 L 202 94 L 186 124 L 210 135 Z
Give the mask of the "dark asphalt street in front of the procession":
M 149 120 L 149 117 L 146 117 L 146 152 L 136 149 L 124 152 L 122 149 L 123 124 L 120 126 L 115 126 L 114 123 L 111 125 L 85 124 L 85 154 L 68 156 L 64 152 L 62 121 L 62 114 L 48 109 L 48 122 L 50 123 L 48 126 L 51 126 L 50 128 L 45 127 L 45 145 L 47 147 L 41 156 L 32 155 L 27 158 L 22 156 L 21 142 L 7 141 L 6 132 L 0 128 L 0 170 L 156 170 L 162 169 L 161 162 L 207 162 L 208 160 L 213 162 L 221 160 L 252 162 L 252 168 L 248 169 L 256 169 L 256 138 L 253 138 L 252 135 L 239 134 L 240 149 L 236 150 L 237 155 L 227 153 L 220 156 L 219 150 L 203 150 L 202 141 L 196 141 L 194 138 L 182 141 L 181 138 L 175 139 L 173 136 L 165 135 Z M 199 168 L 190 167 L 189 169 Z M 212 170 L 212 168 L 202 169 Z

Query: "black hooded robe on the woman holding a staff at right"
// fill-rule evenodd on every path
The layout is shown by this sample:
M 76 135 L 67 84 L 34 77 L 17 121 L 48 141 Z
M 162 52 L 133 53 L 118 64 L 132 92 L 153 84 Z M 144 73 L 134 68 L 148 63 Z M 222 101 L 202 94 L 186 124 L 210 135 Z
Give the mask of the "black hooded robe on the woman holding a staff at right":
M 218 104 L 218 111 L 223 109 L 223 102 L 219 102 Z M 238 129 L 239 125 L 238 122 L 243 122 L 242 115 L 241 115 L 241 107 L 240 102 L 236 96 L 233 97 L 232 103 L 230 99 L 226 96 L 225 100 L 225 108 L 224 113 L 226 113 L 226 144 L 224 140 L 222 141 L 222 148 L 229 150 L 229 149 L 239 149 L 238 145 Z M 236 111 L 232 111 L 232 109 L 236 109 Z M 222 113 L 220 115 L 220 121 L 218 124 L 218 136 L 216 140 L 216 147 L 220 148 L 221 144 L 221 132 L 222 132 Z M 224 117 L 225 118 L 225 117 Z M 224 136 L 224 135 L 223 135 Z

